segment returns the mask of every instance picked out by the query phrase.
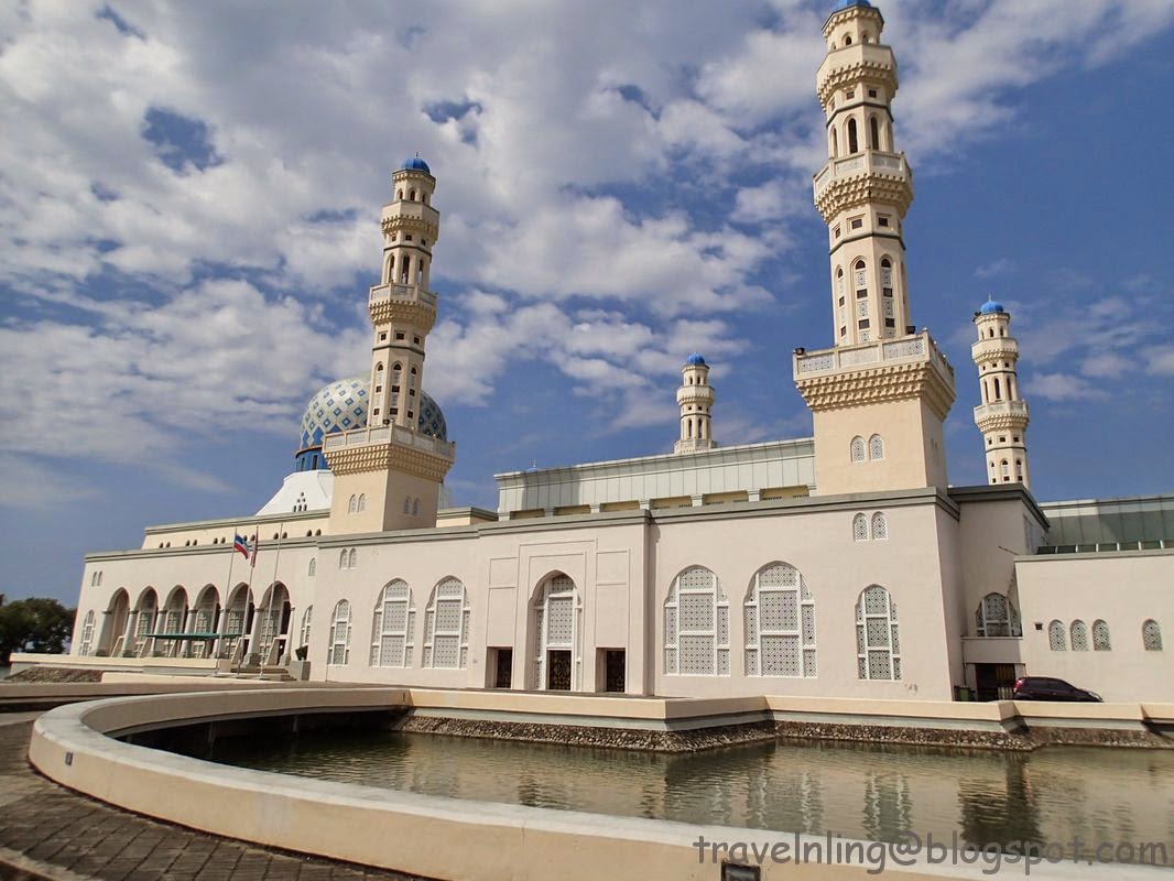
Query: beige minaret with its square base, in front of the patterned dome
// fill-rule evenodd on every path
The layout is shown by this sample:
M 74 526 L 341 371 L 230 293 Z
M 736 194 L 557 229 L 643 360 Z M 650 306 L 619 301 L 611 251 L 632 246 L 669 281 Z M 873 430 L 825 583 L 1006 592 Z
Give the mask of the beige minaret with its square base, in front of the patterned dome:
M 440 234 L 430 204 L 436 183 L 419 156 L 391 176 L 382 273 L 367 296 L 375 331 L 367 424 L 323 439 L 335 475 L 332 534 L 436 526 L 440 484 L 456 456 L 454 444 L 418 431 L 424 345 L 437 318 L 429 290 Z

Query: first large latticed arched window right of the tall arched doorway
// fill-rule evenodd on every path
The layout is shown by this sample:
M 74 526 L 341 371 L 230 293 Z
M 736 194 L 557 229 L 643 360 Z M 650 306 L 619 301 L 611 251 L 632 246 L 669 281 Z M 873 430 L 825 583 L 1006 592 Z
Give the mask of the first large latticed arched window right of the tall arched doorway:
M 664 672 L 729 675 L 730 610 L 717 576 L 702 566 L 684 570 L 664 600 Z

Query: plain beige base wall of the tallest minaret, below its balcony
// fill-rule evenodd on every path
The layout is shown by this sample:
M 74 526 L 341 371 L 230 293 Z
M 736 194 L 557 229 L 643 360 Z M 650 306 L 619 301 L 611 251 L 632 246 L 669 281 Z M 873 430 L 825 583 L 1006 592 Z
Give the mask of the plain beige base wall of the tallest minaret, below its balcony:
M 821 496 L 946 486 L 942 419 L 920 399 L 817 410 L 814 421 Z M 884 459 L 852 462 L 852 438 L 868 448 L 873 435 L 884 439 Z

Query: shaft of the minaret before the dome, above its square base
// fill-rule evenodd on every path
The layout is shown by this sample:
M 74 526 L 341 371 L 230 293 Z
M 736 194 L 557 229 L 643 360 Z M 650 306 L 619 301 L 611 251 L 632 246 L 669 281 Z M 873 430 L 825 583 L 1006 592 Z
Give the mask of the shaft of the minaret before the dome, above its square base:
M 431 206 L 437 181 L 419 156 L 392 174 L 393 199 L 383 207 L 383 274 L 371 288 L 375 325 L 371 348 L 369 424 L 414 429 L 424 378 L 424 345 L 437 318 L 429 291 L 432 244 L 440 214 Z

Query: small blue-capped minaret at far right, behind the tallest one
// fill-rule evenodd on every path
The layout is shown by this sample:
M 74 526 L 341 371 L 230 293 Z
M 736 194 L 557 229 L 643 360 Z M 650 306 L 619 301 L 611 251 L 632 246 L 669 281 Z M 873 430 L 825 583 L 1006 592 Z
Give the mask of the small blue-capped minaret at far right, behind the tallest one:
M 974 408 L 974 424 L 983 432 L 987 483 L 1021 483 L 1030 489 L 1026 432 L 1031 416 L 1027 402 L 1019 397 L 1019 343 L 1008 332 L 1010 324 L 1011 315 L 993 300 L 974 312 L 978 341 L 970 351 L 983 398 Z

